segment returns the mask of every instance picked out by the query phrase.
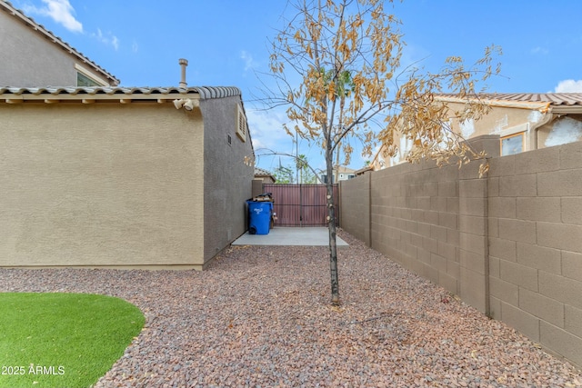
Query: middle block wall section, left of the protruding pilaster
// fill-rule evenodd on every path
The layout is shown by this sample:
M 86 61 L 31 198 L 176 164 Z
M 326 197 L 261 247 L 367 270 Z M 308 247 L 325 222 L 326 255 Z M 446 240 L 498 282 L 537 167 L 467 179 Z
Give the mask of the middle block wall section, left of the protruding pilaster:
M 433 164 L 371 174 L 371 246 L 452 293 L 460 290 L 457 174 Z

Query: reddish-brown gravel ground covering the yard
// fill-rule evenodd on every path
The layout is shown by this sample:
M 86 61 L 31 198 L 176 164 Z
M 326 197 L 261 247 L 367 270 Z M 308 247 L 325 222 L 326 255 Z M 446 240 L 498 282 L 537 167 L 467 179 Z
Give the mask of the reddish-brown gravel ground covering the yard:
M 143 332 L 95 387 L 580 387 L 582 373 L 349 234 L 233 247 L 205 272 L 0 269 L 0 291 L 114 295 Z

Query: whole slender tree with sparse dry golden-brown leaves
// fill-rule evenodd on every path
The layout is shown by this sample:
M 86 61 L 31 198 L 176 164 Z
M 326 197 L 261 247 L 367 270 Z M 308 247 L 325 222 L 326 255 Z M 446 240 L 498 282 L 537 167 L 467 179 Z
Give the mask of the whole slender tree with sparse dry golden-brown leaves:
M 271 73 L 275 87 L 267 101 L 286 106 L 295 125 L 284 125 L 293 137 L 314 141 L 324 149 L 326 175 L 333 176 L 334 153 L 346 136 L 359 139 L 364 154 L 376 142 L 386 155 L 398 153 L 396 140 L 414 144 L 410 162 L 433 158 L 467 163 L 479 157 L 453 133 L 451 119 L 478 119 L 487 106 L 477 98 L 477 85 L 498 72 L 491 66 L 497 47 L 487 47 L 475 65 L 460 57 L 447 59 L 436 74 L 412 66 L 402 68 L 404 42 L 400 21 L 386 14 L 383 0 L 296 0 L 296 15 L 271 42 Z M 349 75 L 349 79 L 346 78 Z M 346 93 L 346 87 L 349 93 Z M 479 91 L 480 92 L 480 91 Z M 464 109 L 451 112 L 434 96 L 452 93 L 465 99 Z M 344 147 L 346 157 L 352 151 Z M 327 179 L 327 222 L 331 302 L 340 303 L 336 253 L 336 209 L 332 181 Z

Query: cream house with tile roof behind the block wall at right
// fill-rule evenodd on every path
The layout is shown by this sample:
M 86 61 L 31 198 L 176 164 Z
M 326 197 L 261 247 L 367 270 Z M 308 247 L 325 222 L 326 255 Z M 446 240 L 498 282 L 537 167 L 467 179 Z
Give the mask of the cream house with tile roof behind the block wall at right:
M 582 93 L 479 95 L 491 107 L 477 122 L 451 123 L 464 138 L 483 134 L 500 136 L 501 155 L 518 154 L 548 146 L 582 140 Z M 453 95 L 437 95 L 437 102 L 462 110 L 464 103 Z M 410 150 L 412 142 L 400 139 L 400 150 Z M 404 153 L 384 158 L 376 154 L 372 166 L 379 170 L 405 161 Z

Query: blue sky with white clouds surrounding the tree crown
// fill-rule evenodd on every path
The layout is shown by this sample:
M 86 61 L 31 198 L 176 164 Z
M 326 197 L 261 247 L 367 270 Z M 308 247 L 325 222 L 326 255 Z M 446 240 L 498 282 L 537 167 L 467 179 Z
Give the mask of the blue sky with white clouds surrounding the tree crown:
M 286 0 L 11 0 L 41 25 L 121 80 L 122 86 L 177 86 L 186 58 L 189 86 L 237 86 L 243 92 L 253 142 L 295 153 L 280 111 L 256 103 L 268 71 L 268 39 L 282 25 Z M 390 9 L 391 6 L 386 6 Z M 503 49 L 502 75 L 491 92 L 582 92 L 582 1 L 408 0 L 396 3 L 405 61 L 437 71 L 449 55 L 472 63 L 487 45 Z M 300 141 L 316 168 L 315 144 Z M 259 157 L 267 170 L 278 157 Z M 290 160 L 283 158 L 285 164 Z M 360 168 L 364 158 L 352 157 Z

